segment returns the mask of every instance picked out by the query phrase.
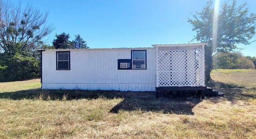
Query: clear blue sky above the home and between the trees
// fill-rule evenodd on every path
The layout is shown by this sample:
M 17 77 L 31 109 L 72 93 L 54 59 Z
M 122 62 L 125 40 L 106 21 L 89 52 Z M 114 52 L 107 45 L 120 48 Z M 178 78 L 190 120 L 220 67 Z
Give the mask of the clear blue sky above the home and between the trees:
M 249 11 L 256 13 L 256 0 L 246 2 Z M 187 19 L 206 0 L 22 0 L 26 4 L 49 11 L 48 23 L 55 30 L 46 37 L 48 43 L 55 34 L 65 32 L 70 40 L 80 34 L 90 48 L 114 48 L 188 43 L 196 32 Z M 245 48 L 244 55 L 256 56 L 256 42 L 238 46 Z

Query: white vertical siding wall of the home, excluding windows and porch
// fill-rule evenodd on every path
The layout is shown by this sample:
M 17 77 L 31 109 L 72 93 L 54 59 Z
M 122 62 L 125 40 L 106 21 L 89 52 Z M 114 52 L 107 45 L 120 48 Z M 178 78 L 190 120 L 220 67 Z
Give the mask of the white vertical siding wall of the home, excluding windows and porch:
M 146 70 L 118 70 L 131 50 L 147 50 Z M 70 70 L 56 70 L 56 51 L 70 51 Z M 43 89 L 154 91 L 156 49 L 70 49 L 43 51 Z M 132 65 L 131 65 L 132 66 Z

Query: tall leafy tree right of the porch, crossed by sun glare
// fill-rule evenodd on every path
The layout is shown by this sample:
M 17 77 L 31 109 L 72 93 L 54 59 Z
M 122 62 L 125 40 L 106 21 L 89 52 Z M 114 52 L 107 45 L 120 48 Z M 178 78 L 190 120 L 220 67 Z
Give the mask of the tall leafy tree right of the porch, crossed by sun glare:
M 236 3 L 236 0 L 230 5 L 225 2 L 217 13 L 213 1 L 209 0 L 202 11 L 188 19 L 192 30 L 197 32 L 193 40 L 208 42 L 205 47 L 206 81 L 211 80 L 213 52 L 234 51 L 237 49 L 236 44 L 250 44 L 255 34 L 256 14 L 249 14 L 246 3 L 239 6 Z

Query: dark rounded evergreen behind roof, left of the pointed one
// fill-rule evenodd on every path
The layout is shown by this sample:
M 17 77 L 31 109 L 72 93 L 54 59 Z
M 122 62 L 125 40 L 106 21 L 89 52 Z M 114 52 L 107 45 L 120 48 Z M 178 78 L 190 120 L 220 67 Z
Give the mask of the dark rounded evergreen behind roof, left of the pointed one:
M 70 49 L 74 48 L 72 46 L 72 42 L 69 41 L 69 34 L 66 34 L 65 32 L 57 35 L 55 34 L 56 39 L 53 40 L 52 44 L 55 49 Z

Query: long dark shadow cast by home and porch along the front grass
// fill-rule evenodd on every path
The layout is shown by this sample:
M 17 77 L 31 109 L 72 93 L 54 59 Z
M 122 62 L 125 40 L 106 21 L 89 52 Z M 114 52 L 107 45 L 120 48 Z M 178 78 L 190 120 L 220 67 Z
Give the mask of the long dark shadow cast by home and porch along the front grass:
M 185 93 L 183 97 L 177 97 L 173 93 L 161 93 L 160 98 L 156 98 L 156 92 L 119 92 L 102 90 L 22 90 L 17 92 L 0 93 L 0 98 L 6 99 L 41 99 L 62 100 L 63 95 L 67 100 L 72 99 L 123 99 L 109 112 L 118 113 L 125 111 L 153 111 L 164 114 L 187 114 L 193 115 L 192 108 L 202 101 L 199 96 Z

